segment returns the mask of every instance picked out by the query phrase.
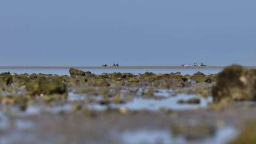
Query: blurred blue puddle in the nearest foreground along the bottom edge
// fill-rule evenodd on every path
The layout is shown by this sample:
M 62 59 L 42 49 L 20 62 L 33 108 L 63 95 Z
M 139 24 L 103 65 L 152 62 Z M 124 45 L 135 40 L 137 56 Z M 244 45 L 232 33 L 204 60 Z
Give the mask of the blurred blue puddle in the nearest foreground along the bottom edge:
M 174 138 L 169 130 L 137 130 L 121 133 L 124 144 L 226 144 L 237 135 L 237 130 L 225 127 L 217 130 L 216 135 L 196 141 L 184 137 Z

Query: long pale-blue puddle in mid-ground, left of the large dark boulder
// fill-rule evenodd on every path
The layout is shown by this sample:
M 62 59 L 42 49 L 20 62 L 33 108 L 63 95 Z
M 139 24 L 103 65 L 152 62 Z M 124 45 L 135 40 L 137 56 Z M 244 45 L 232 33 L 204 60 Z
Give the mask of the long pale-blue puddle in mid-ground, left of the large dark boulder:
M 182 110 L 182 109 L 192 109 L 192 108 L 206 108 L 208 106 L 209 102 L 212 102 L 212 98 L 209 97 L 207 99 L 205 98 L 199 98 L 201 100 L 200 104 L 179 104 L 178 100 L 188 100 L 192 98 L 199 98 L 195 95 L 185 95 L 185 94 L 179 94 L 175 97 L 170 97 L 167 99 L 142 99 L 142 98 L 134 98 L 133 101 L 127 102 L 122 105 L 116 105 L 112 104 L 111 106 L 114 108 L 128 108 L 131 110 L 141 110 L 141 109 L 148 109 L 148 110 L 159 110 L 159 108 L 170 108 L 170 109 L 176 109 L 176 110 Z

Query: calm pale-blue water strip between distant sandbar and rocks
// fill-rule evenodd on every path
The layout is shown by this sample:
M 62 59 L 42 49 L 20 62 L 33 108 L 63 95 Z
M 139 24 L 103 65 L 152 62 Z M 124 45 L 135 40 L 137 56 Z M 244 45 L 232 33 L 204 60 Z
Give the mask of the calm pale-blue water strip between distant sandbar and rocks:
M 145 73 L 145 72 L 154 72 L 154 73 L 171 73 L 171 72 L 181 72 L 182 75 L 185 74 L 190 74 L 192 75 L 195 72 L 203 72 L 204 74 L 208 75 L 208 74 L 214 74 L 214 73 L 218 73 L 220 72 L 222 69 L 123 69 L 123 68 L 109 68 L 109 69 L 99 69 L 99 68 L 95 68 L 95 69 L 80 69 L 82 71 L 90 71 L 92 73 L 95 74 L 101 74 L 104 72 L 107 73 L 112 73 L 112 72 L 130 72 L 133 74 L 138 74 L 138 73 Z M 0 69 L 0 72 L 11 72 L 11 73 L 28 73 L 28 74 L 32 74 L 32 73 L 44 73 L 44 74 L 58 74 L 58 75 L 70 75 L 69 74 L 69 69 Z

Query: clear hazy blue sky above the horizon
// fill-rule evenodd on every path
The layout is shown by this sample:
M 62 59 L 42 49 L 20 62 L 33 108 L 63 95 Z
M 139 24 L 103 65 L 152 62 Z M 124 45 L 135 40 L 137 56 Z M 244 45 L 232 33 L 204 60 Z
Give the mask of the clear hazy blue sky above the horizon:
M 256 0 L 0 0 L 0 66 L 256 65 Z

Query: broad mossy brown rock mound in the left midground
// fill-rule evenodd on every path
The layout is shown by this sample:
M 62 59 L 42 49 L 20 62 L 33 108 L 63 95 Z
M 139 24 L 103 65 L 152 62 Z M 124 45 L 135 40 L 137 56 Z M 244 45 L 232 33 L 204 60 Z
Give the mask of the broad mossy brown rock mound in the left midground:
M 38 77 L 36 81 L 27 83 L 27 91 L 32 95 L 66 94 L 67 87 L 57 79 L 47 80 L 45 77 Z

